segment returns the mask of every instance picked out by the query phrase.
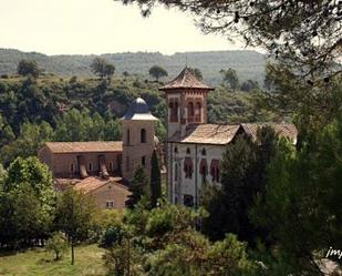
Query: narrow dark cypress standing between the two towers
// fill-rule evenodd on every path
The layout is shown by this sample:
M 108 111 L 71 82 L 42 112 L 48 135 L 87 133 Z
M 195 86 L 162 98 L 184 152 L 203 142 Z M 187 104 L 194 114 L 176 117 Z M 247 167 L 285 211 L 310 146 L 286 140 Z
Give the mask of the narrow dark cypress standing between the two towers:
M 160 166 L 157 151 L 154 150 L 151 159 L 151 205 L 156 207 L 157 201 L 162 197 Z

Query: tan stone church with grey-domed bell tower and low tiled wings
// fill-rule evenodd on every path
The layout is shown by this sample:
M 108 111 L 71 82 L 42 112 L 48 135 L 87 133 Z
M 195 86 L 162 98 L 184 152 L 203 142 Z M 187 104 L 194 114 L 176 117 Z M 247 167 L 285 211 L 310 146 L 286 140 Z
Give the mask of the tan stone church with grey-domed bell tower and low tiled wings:
M 136 168 L 143 166 L 149 176 L 152 154 L 160 153 L 155 121 L 137 98 L 121 119 L 122 141 L 49 142 L 38 156 L 49 166 L 56 190 L 83 191 L 100 208 L 124 208 Z

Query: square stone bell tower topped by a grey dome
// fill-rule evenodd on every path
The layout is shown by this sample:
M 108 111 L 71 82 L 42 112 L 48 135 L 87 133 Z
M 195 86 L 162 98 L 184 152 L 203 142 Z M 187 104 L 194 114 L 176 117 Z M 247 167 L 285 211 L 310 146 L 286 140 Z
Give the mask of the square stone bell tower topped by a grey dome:
M 126 114 L 121 119 L 123 126 L 123 178 L 133 178 L 137 167 L 143 166 L 146 175 L 151 174 L 151 157 L 155 149 L 155 129 L 157 121 L 151 114 L 147 103 L 142 99 L 135 99 Z

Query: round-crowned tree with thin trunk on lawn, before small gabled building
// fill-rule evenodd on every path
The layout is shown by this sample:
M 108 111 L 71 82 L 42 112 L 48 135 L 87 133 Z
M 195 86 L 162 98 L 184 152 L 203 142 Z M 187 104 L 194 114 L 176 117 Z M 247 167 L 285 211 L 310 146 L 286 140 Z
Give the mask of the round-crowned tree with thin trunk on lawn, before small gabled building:
M 56 228 L 62 231 L 71 245 L 71 264 L 74 264 L 74 246 L 87 237 L 95 214 L 93 198 L 83 192 L 68 190 L 58 198 L 55 211 Z

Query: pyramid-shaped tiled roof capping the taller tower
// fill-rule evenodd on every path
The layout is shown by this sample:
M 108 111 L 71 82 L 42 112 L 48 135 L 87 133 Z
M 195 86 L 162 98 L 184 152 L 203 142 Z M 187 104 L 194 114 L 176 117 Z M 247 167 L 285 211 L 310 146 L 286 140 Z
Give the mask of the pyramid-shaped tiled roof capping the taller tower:
M 169 83 L 165 84 L 159 90 L 167 91 L 174 89 L 203 89 L 203 90 L 214 90 L 209 85 L 205 84 L 204 82 L 199 81 L 193 70 L 189 68 L 185 68 L 176 79 L 170 81 Z

